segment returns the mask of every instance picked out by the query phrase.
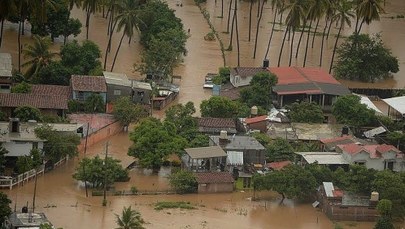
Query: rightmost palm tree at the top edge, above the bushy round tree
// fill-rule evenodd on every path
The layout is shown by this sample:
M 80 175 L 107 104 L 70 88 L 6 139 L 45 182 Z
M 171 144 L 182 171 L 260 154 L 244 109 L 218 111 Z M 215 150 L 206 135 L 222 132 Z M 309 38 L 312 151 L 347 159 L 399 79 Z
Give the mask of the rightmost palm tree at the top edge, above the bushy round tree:
M 362 21 L 356 33 L 360 33 L 364 22 L 369 25 L 372 21 L 380 20 L 380 13 L 384 12 L 382 4 L 382 0 L 361 0 L 359 2 L 357 15 Z

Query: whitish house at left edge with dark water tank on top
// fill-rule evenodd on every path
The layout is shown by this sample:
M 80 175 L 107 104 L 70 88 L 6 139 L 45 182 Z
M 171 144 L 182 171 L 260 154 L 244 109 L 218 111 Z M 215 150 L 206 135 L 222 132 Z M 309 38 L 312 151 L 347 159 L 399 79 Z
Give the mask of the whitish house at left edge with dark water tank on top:
M 0 122 L 0 143 L 8 151 L 6 157 L 28 156 L 32 149 L 42 150 L 44 140 L 34 132 L 35 123 L 21 123 L 18 118 Z

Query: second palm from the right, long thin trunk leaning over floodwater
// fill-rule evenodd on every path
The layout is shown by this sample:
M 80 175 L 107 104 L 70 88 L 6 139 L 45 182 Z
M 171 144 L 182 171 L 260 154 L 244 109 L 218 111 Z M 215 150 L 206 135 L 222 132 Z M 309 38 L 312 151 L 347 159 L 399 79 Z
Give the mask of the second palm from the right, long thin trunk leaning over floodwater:
M 337 43 L 340 37 L 340 32 L 345 25 L 351 26 L 351 18 L 354 18 L 352 12 L 352 4 L 347 0 L 340 0 L 336 5 L 336 14 L 333 16 L 334 21 L 340 24 L 339 32 L 336 36 L 335 46 L 333 47 L 332 59 L 330 60 L 329 74 L 332 72 L 333 59 L 335 58 L 335 52 Z

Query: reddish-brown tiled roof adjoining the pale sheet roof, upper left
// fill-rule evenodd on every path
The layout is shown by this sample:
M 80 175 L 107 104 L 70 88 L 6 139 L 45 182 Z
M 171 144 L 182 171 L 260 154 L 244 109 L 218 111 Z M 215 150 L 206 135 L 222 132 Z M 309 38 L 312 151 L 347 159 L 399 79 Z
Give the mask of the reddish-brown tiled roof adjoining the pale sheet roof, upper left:
M 107 92 L 105 78 L 102 76 L 78 76 L 70 79 L 74 91 Z

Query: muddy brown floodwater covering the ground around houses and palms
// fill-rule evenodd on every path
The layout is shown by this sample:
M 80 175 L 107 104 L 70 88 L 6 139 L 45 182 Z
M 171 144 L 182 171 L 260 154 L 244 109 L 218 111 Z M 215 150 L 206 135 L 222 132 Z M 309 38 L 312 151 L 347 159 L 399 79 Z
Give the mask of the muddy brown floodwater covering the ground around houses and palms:
M 225 0 L 225 10 L 227 9 L 227 0 Z M 194 5 L 192 0 L 183 0 L 183 7 L 177 7 L 177 0 L 168 1 L 169 5 L 176 10 L 176 15 L 183 20 L 186 29 L 190 28 L 191 36 L 187 42 L 188 55 L 185 57 L 184 63 L 176 70 L 176 75 L 181 75 L 182 79 L 178 82 L 181 85 L 181 92 L 177 102 L 184 103 L 193 101 L 197 109 L 202 100 L 209 98 L 211 92 L 202 89 L 204 76 L 207 72 L 216 72 L 218 67 L 222 66 L 223 60 L 221 51 L 217 42 L 204 41 L 203 37 L 210 31 L 207 23 L 199 12 L 199 9 Z M 207 9 L 210 12 L 211 19 L 215 27 L 220 32 L 220 36 L 224 41 L 225 46 L 228 44 L 228 35 L 221 33 L 226 29 L 226 16 L 224 19 L 217 18 L 220 14 L 220 0 L 217 1 L 215 7 L 214 1 L 207 3 Z M 251 59 L 253 50 L 253 41 L 247 41 L 247 21 L 248 21 L 248 3 L 241 2 L 239 6 L 240 16 L 240 37 L 241 37 L 241 65 L 242 66 L 259 66 L 262 64 L 265 46 L 267 44 L 267 36 L 269 34 L 269 23 L 272 19 L 272 12 L 269 5 L 266 5 L 266 11 L 260 27 L 258 53 L 255 60 Z M 366 32 L 382 31 L 383 40 L 390 47 L 393 53 L 400 59 L 400 69 L 404 69 L 405 47 L 403 40 L 405 39 L 405 20 L 404 19 L 389 19 L 386 16 L 396 16 L 405 14 L 405 2 L 402 0 L 387 1 L 386 11 L 381 22 L 375 22 L 371 26 L 365 26 Z M 72 13 L 74 17 L 84 21 L 85 13 L 75 9 Z M 227 15 L 224 12 L 224 15 Z M 254 13 L 255 15 L 255 13 Z M 253 29 L 256 26 L 256 17 L 253 17 Z M 92 16 L 90 21 L 89 37 L 95 41 L 101 48 L 104 56 L 105 47 L 107 45 L 106 24 L 107 20 L 102 18 L 100 14 Z M 322 26 L 322 25 L 320 25 Z M 26 26 L 28 29 L 28 25 Z M 276 27 L 277 28 L 277 27 Z M 350 30 L 345 29 L 345 35 L 350 34 Z M 23 44 L 29 44 L 32 40 L 29 38 L 29 33 L 23 37 Z M 85 36 L 85 28 L 82 34 L 77 39 L 83 40 Z M 275 66 L 278 51 L 280 46 L 282 33 L 276 32 L 274 41 L 270 51 L 270 64 Z M 6 23 L 4 45 L 1 47 L 2 52 L 10 52 L 13 56 L 14 66 L 17 64 L 17 45 L 16 45 L 16 25 Z M 298 38 L 298 36 L 296 36 Z M 119 35 L 113 37 L 113 47 L 115 49 L 118 44 Z M 116 72 L 124 72 L 130 78 L 140 79 L 141 76 L 133 72 L 133 64 L 139 61 L 139 53 L 142 47 L 138 43 L 139 38 L 133 38 L 133 42 L 128 44 L 124 42 L 118 55 Z M 325 51 L 325 65 L 327 68 L 330 52 L 333 46 L 334 39 L 329 38 L 327 41 L 327 50 Z M 58 50 L 61 41 L 57 41 L 52 47 Z M 234 45 L 234 50 L 236 46 Z M 319 37 L 315 42 L 315 47 L 319 47 Z M 303 46 L 301 47 L 303 49 Z M 289 45 L 286 44 L 285 56 L 283 64 L 287 62 L 287 53 Z M 112 53 L 113 54 L 113 53 Z M 108 66 L 111 65 L 112 54 L 109 55 Z M 308 66 L 316 66 L 318 57 L 318 48 L 309 49 Z M 302 64 L 302 53 L 297 60 L 294 59 L 293 64 Z M 229 66 L 236 65 L 236 52 L 227 52 L 227 64 Z M 24 62 L 24 61 L 23 61 Z M 367 84 L 358 84 L 353 82 L 345 82 L 350 85 L 369 86 Z M 377 84 L 378 87 L 403 87 L 405 79 L 403 73 L 395 74 L 395 77 Z M 162 112 L 156 112 L 157 116 L 161 116 Z M 127 165 L 132 162 L 132 158 L 127 156 L 127 149 L 131 144 L 127 133 L 121 133 L 108 139 L 109 152 L 115 158 L 123 161 Z M 100 142 L 92 146 L 88 150 L 86 156 L 94 156 L 103 154 L 105 142 Z M 82 158 L 83 155 L 80 155 Z M 232 194 L 207 194 L 207 195 L 156 195 L 156 196 L 125 196 L 112 197 L 108 196 L 107 207 L 102 207 L 102 197 L 85 197 L 85 191 L 82 184 L 76 182 L 72 178 L 75 167 L 80 158 L 70 160 L 67 164 L 45 174 L 38 178 L 36 210 L 45 212 L 48 218 L 58 227 L 64 229 L 80 229 L 80 228 L 97 228 L 110 229 L 115 228 L 115 215 L 119 214 L 124 206 L 133 206 L 139 210 L 147 222 L 146 228 L 220 228 L 220 229 L 235 229 L 235 228 L 281 228 L 281 229 L 324 229 L 334 228 L 333 223 L 317 209 L 312 208 L 310 204 L 299 204 L 286 200 L 284 205 L 279 205 L 279 196 L 276 194 L 260 193 L 266 201 L 251 201 L 252 194 L 250 192 L 235 192 Z M 152 174 L 148 170 L 133 169 L 130 171 L 131 180 L 126 183 L 117 183 L 117 190 L 129 190 L 132 186 L 139 190 L 167 190 L 168 182 L 165 176 L 170 173 L 170 170 L 163 168 L 159 174 Z M 13 206 L 16 203 L 17 209 L 21 209 L 27 202 L 31 206 L 33 194 L 33 182 L 28 182 L 26 185 L 15 188 L 13 190 L 2 190 L 9 195 L 13 200 Z M 157 201 L 190 201 L 198 205 L 196 210 L 162 210 L 155 211 L 153 203 Z M 373 227 L 373 223 L 340 223 L 344 228 L 360 228 L 368 229 Z M 401 225 L 405 227 L 405 225 Z

